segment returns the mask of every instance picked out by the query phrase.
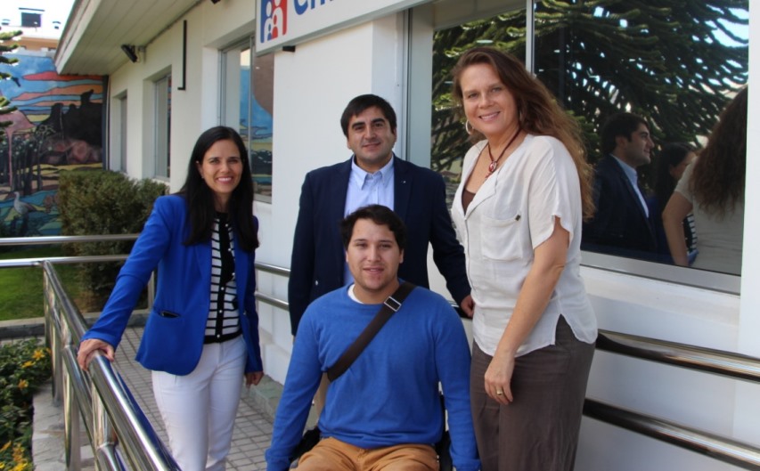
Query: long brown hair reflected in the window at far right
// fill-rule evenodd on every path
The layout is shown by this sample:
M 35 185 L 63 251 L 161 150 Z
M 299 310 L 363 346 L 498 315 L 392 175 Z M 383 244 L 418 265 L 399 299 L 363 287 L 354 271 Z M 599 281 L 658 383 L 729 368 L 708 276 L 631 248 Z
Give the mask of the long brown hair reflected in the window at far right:
M 694 164 L 689 189 L 707 214 L 723 217 L 744 201 L 747 101 L 745 86 L 721 113 Z

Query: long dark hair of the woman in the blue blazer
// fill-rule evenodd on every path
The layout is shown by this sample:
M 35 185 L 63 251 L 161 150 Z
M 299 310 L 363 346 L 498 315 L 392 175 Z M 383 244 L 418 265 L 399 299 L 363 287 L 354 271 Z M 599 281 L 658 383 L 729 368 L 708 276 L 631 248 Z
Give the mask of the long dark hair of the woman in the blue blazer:
M 184 245 L 211 240 L 217 210 L 214 207 L 214 194 L 200 177 L 198 165 L 203 163 L 203 157 L 208 149 L 219 141 L 234 142 L 241 154 L 241 181 L 230 197 L 229 217 L 230 223 L 233 224 L 233 231 L 238 235 L 241 248 L 246 252 L 251 252 L 258 247 L 258 237 L 253 224 L 253 182 L 250 175 L 248 150 L 240 134 L 232 127 L 226 126 L 212 127 L 200 134 L 195 147 L 192 148 L 190 163 L 187 166 L 187 178 L 180 191 L 177 191 L 177 194 L 184 196 L 190 215 L 188 217 L 190 235 L 187 240 L 184 240 Z

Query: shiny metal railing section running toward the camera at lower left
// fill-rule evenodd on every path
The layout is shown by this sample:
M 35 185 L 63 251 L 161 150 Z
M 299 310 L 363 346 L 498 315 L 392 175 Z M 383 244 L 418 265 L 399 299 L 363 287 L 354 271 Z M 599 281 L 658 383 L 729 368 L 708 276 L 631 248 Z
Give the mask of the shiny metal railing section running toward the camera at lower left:
M 110 361 L 97 353 L 89 365 L 89 376 L 79 369 L 77 345 L 86 331 L 85 320 L 62 288 L 53 264 L 44 262 L 43 268 L 45 337 L 53 355 L 54 397 L 62 396 L 67 467 L 80 466 L 81 413 L 99 469 L 178 470 Z

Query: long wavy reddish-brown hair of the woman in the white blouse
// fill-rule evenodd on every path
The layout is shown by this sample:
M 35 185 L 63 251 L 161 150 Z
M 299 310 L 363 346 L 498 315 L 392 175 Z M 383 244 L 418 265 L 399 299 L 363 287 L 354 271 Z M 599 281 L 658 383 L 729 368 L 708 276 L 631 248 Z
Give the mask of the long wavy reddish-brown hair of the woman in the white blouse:
M 474 47 L 463 53 L 457 61 L 452 76 L 454 79 L 452 97 L 457 104 L 457 112 L 463 116 L 462 72 L 475 65 L 486 64 L 494 68 L 502 83 L 509 89 L 517 104 L 519 125 L 530 134 L 549 135 L 562 142 L 576 164 L 581 186 L 584 219 L 593 215 L 592 166 L 586 161 L 585 146 L 580 126 L 576 120 L 562 109 L 549 89 L 532 76 L 522 62 L 508 53 L 493 47 Z M 483 134 L 473 130 L 471 140 L 484 139 Z

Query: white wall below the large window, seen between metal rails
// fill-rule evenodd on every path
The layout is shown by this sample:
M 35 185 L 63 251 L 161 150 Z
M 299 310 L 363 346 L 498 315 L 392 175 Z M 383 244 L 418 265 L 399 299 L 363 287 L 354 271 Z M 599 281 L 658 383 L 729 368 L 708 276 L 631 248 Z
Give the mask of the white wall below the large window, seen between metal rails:
M 736 351 L 738 296 L 584 269 L 601 329 Z M 685 426 L 734 434 L 737 382 L 598 350 L 587 397 Z M 584 418 L 578 469 L 723 470 L 714 459 Z

